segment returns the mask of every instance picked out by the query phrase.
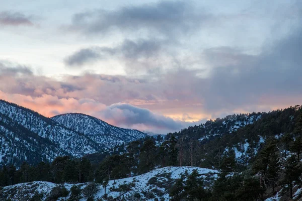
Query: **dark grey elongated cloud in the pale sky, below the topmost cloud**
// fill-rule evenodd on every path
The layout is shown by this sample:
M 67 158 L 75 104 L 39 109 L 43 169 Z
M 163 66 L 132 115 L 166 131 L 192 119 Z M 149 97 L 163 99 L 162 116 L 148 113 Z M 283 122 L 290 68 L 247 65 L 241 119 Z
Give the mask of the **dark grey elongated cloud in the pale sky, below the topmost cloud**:
M 99 60 L 114 59 L 125 66 L 126 72 L 155 70 L 152 61 L 158 60 L 166 52 L 168 41 L 156 39 L 136 41 L 124 40 L 115 47 L 90 47 L 81 49 L 68 56 L 64 63 L 69 67 L 84 67 Z M 151 60 L 151 61 L 150 61 Z

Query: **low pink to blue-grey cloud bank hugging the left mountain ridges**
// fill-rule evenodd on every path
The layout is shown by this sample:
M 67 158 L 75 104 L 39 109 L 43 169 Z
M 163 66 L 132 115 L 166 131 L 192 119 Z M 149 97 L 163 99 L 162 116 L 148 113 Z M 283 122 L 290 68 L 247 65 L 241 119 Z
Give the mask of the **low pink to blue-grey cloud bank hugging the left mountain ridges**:
M 20 94 L 7 94 L 0 90 L 0 99 L 6 99 L 38 111 L 47 117 L 64 113 L 85 113 L 115 126 L 163 134 L 178 131 L 189 125 L 186 122 L 175 121 L 147 109 L 134 107 L 129 104 L 118 103 L 106 106 L 90 98 L 59 98 L 47 94 L 43 94 L 40 97 L 31 97 Z

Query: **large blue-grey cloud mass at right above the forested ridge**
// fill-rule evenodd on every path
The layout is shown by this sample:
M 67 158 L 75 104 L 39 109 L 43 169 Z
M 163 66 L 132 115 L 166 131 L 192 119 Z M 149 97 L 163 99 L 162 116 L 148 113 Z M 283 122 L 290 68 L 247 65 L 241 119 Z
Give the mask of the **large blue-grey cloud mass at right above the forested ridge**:
M 205 109 L 234 110 L 267 104 L 269 101 L 278 102 L 268 97 L 279 100 L 291 97 L 292 105 L 301 104 L 301 47 L 302 26 L 292 28 L 291 34 L 281 40 L 265 44 L 259 55 L 247 55 L 223 48 L 221 51 L 224 57 L 220 51 L 220 60 L 233 62 L 215 66 L 208 81 L 202 82 L 203 86 L 210 89 L 206 94 L 209 98 L 205 98 Z M 213 52 L 210 51 L 210 54 Z

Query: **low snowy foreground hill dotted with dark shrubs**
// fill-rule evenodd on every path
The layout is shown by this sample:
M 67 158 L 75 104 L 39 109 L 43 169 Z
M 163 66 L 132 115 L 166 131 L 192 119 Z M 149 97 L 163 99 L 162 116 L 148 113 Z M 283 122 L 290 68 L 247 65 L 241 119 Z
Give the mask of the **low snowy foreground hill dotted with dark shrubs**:
M 199 167 L 164 167 L 155 169 L 134 177 L 128 177 L 123 179 L 111 180 L 107 186 L 106 193 L 108 197 L 113 198 L 124 197 L 129 200 L 135 193 L 140 195 L 140 200 L 170 200 L 169 190 L 173 185 L 175 179 L 181 178 L 181 175 L 191 174 L 194 169 L 197 169 L 198 173 L 205 178 L 205 182 L 210 186 L 216 178 L 217 171 Z M 185 178 L 184 178 L 185 179 Z M 73 184 L 65 183 L 63 186 L 67 190 L 70 190 Z M 81 186 L 84 189 L 88 183 L 75 184 Z M 34 181 L 30 183 L 19 183 L 16 185 L 6 186 L 0 191 L 0 199 L 3 197 L 10 197 L 12 200 L 20 200 L 20 198 L 26 198 L 29 200 L 34 196 L 35 192 L 42 193 L 45 200 L 49 195 L 53 187 L 57 184 L 44 181 Z M 98 186 L 99 188 L 99 186 Z M 94 194 L 95 199 L 104 195 L 105 189 L 101 187 Z M 81 200 L 87 198 L 83 195 Z M 70 192 L 66 198 L 70 196 Z M 61 197 L 62 198 L 62 197 Z M 61 200 L 58 198 L 57 200 Z

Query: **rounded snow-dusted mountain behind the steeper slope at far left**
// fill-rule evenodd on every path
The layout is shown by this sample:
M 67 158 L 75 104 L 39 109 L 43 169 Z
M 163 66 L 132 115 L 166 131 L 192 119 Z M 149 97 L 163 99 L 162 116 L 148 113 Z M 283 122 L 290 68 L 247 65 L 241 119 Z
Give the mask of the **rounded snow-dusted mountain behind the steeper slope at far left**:
M 100 119 L 84 114 L 63 114 L 54 116 L 51 119 L 70 130 L 83 133 L 101 147 L 107 149 L 147 136 L 140 131 L 115 127 Z

